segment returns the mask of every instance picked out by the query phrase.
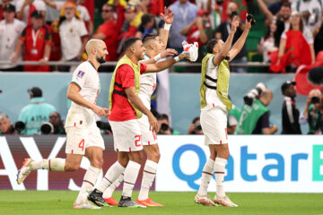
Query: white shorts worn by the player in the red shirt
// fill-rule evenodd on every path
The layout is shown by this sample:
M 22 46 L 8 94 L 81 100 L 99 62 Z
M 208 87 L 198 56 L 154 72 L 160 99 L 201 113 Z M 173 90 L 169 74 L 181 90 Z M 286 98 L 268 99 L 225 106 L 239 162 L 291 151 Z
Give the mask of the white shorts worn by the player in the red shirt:
M 143 150 L 142 133 L 137 119 L 123 122 L 109 121 L 116 151 Z

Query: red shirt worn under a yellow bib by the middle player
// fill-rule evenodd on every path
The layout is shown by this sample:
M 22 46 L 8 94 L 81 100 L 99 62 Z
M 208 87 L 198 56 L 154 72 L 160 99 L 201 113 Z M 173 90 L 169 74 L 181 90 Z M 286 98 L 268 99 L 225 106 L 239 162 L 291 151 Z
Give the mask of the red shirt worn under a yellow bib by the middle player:
M 140 73 L 144 73 L 146 69 L 146 64 L 140 64 Z M 130 87 L 135 87 L 134 69 L 128 64 L 120 65 L 116 73 L 114 89 L 126 95 L 125 89 Z M 130 105 L 127 97 L 113 93 L 109 120 L 122 122 L 131 119 L 136 119 L 135 109 Z

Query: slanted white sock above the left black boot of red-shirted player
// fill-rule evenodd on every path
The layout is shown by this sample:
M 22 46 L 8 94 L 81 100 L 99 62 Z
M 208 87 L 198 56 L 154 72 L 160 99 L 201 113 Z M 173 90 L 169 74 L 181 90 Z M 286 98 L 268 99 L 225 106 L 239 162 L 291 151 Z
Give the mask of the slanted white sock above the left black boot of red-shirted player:
M 111 185 L 115 180 L 117 180 L 118 176 L 120 176 L 125 171 L 125 168 L 122 167 L 119 162 L 115 162 L 107 171 L 106 175 L 102 178 L 100 185 L 97 190 L 100 192 L 104 192 L 109 185 Z

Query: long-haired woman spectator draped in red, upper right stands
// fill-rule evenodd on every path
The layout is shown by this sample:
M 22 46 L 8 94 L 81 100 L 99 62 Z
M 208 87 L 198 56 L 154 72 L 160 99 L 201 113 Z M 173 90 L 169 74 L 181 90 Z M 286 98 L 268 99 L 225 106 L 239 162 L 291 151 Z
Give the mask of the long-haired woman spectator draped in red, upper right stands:
M 284 31 L 278 51 L 278 58 L 272 56 L 270 70 L 285 72 L 286 66 L 292 70 L 301 64 L 315 64 L 313 37 L 310 30 L 303 27 L 300 13 L 293 12 L 290 30 Z

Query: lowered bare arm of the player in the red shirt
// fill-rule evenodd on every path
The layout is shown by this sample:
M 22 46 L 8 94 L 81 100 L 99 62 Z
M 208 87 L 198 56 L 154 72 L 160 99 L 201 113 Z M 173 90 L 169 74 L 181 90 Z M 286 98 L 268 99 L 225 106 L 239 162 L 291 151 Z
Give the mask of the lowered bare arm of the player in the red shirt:
M 147 107 L 144 107 L 143 101 L 139 99 L 139 97 L 135 94 L 135 87 L 126 88 L 125 92 L 127 94 L 127 99 L 129 99 L 137 109 L 143 112 L 145 116 L 148 116 L 150 129 L 153 129 L 153 131 L 157 132 L 157 119 L 153 116 L 152 112 L 150 112 L 149 109 L 147 109 Z

